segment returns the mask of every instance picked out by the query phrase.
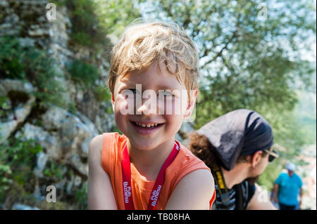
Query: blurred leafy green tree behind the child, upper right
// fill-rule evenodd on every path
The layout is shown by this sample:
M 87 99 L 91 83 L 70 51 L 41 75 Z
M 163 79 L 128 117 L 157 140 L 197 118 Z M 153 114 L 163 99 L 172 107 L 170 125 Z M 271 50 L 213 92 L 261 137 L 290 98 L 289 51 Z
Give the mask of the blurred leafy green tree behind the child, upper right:
M 313 70 L 301 52 L 309 51 L 307 41 L 316 34 L 311 1 L 161 0 L 150 6 L 152 17 L 178 23 L 199 48 L 197 128 L 241 107 L 260 113 L 292 110 L 295 82 L 309 85 Z

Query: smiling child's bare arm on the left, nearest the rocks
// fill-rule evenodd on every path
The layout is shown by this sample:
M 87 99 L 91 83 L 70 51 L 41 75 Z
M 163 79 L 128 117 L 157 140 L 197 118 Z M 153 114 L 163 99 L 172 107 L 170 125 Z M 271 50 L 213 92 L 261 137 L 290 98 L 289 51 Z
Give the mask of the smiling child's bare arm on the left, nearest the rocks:
M 111 180 L 101 166 L 103 136 L 92 139 L 89 145 L 88 209 L 118 209 Z

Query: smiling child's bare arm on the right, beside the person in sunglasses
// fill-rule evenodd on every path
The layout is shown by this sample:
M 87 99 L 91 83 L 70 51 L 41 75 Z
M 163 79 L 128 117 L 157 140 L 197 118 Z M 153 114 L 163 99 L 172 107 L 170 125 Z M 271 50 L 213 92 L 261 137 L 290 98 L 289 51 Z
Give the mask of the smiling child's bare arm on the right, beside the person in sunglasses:
M 166 210 L 209 209 L 215 184 L 207 169 L 198 169 L 184 176 L 166 204 Z

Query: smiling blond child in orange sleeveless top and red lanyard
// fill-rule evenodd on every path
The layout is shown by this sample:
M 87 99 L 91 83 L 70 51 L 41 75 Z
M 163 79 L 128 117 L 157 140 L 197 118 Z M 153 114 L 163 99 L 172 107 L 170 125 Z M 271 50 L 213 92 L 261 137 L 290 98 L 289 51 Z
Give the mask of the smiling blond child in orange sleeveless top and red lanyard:
M 198 77 L 197 49 L 178 25 L 125 31 L 108 79 L 123 135 L 104 133 L 89 145 L 89 209 L 211 209 L 210 169 L 175 140 L 194 108 Z

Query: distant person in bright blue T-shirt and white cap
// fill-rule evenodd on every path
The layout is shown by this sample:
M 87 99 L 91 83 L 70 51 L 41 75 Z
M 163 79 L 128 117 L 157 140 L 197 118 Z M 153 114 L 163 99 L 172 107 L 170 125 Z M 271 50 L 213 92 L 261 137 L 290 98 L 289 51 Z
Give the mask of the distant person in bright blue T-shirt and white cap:
M 280 210 L 295 210 L 302 206 L 302 179 L 294 173 L 296 166 L 293 163 L 286 165 L 287 173 L 280 173 L 274 182 L 274 201 L 279 204 Z M 298 195 L 301 199 L 298 202 Z

